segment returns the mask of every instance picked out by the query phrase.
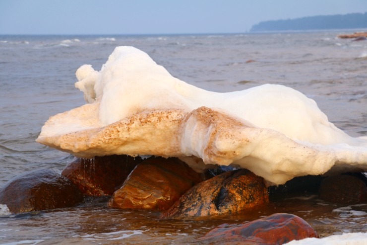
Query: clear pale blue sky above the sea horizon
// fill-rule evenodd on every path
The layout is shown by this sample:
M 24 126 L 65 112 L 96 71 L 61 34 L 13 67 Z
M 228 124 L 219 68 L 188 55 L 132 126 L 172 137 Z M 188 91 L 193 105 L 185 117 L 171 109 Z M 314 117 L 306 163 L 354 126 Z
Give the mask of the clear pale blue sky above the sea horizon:
M 260 21 L 367 12 L 367 0 L 0 0 L 0 34 L 244 33 Z

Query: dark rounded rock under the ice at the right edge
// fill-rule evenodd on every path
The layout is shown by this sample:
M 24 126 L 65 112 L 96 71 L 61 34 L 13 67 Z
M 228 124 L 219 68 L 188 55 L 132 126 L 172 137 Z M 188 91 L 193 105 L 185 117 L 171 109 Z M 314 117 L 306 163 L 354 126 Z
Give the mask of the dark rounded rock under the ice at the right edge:
M 367 200 L 367 187 L 358 177 L 335 175 L 321 182 L 319 195 L 321 199 L 328 202 L 355 204 Z

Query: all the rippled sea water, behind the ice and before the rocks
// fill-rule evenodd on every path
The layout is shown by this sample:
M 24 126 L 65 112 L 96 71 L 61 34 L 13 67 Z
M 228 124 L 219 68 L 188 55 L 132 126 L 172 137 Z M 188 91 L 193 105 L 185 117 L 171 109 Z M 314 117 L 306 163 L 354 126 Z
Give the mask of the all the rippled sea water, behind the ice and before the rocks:
M 117 46 L 149 54 L 174 77 L 219 92 L 276 83 L 314 99 L 329 121 L 367 136 L 366 30 L 185 35 L 0 35 L 0 187 L 26 171 L 61 171 L 73 156 L 35 142 L 46 120 L 85 103 L 74 87 L 84 64 L 100 70 Z M 106 198 L 72 208 L 0 215 L 0 244 L 206 244 L 210 229 L 272 213 L 292 213 L 327 237 L 367 232 L 367 203 L 327 203 L 315 195 L 274 201 L 238 215 L 160 220 L 154 211 L 109 208 Z

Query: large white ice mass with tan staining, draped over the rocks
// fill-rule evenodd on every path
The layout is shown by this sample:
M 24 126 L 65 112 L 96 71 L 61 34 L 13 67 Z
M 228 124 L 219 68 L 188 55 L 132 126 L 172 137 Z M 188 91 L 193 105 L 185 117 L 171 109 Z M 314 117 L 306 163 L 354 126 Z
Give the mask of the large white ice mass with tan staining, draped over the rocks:
M 315 101 L 283 85 L 207 91 L 133 47 L 117 47 L 101 71 L 83 65 L 76 77 L 88 103 L 50 117 L 37 142 L 77 157 L 179 157 L 194 169 L 233 164 L 273 184 L 367 170 L 367 139 L 350 137 Z

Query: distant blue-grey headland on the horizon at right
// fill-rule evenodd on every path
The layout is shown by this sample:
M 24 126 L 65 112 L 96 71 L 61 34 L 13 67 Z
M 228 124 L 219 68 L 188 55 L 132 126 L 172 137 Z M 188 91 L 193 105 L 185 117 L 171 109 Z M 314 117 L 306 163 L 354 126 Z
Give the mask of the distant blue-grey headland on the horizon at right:
M 322 30 L 367 28 L 366 13 L 319 15 L 297 19 L 263 21 L 253 25 L 254 31 Z

